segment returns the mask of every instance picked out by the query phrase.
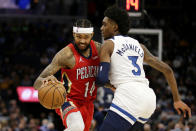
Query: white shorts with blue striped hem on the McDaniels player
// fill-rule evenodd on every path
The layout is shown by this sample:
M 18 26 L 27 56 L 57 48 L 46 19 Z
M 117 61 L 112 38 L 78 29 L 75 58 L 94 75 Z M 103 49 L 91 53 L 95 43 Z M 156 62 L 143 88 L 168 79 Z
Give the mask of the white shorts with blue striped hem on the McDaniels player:
M 110 110 L 132 125 L 145 123 L 156 109 L 156 95 L 145 83 L 129 82 L 116 87 Z

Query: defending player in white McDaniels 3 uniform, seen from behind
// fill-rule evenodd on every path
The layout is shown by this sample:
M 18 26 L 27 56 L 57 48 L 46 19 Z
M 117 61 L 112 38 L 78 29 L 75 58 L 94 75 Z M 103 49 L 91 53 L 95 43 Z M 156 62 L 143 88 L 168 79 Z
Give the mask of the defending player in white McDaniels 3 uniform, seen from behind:
M 145 78 L 143 62 L 164 74 L 171 87 L 174 108 L 179 114 L 182 111 L 184 117 L 186 113 L 191 117 L 191 109 L 179 96 L 173 70 L 144 45 L 126 36 L 129 30 L 127 12 L 112 6 L 104 15 L 101 31 L 105 42 L 96 83 L 103 86 L 110 81 L 116 90 L 100 131 L 127 131 L 136 121 L 145 123 L 153 114 L 156 96 Z

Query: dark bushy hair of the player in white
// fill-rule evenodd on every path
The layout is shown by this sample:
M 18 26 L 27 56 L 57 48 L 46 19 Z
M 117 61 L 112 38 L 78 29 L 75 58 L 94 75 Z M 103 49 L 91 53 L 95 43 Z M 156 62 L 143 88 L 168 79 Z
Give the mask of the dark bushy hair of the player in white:
M 104 16 L 116 22 L 119 28 L 119 32 L 122 35 L 127 35 L 130 28 L 130 23 L 129 23 L 129 15 L 126 12 L 126 10 L 123 10 L 113 5 L 105 10 Z

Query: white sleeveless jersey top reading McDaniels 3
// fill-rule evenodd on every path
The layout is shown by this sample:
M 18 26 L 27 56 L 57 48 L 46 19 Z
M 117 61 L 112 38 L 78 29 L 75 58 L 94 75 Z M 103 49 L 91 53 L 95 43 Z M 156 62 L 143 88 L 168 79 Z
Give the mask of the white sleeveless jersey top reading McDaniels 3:
M 143 69 L 144 51 L 139 42 L 129 36 L 114 36 L 109 79 L 112 85 L 127 82 L 149 83 Z

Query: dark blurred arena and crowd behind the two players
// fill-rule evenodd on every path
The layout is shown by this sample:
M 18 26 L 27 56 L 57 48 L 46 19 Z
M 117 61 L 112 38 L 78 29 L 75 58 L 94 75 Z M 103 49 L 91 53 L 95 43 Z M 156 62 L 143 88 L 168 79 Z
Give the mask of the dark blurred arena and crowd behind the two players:
M 55 111 L 36 101 L 33 82 L 56 52 L 73 41 L 72 26 L 76 19 L 91 20 L 94 40 L 102 42 L 103 12 L 113 4 L 127 9 L 131 29 L 162 33 L 129 35 L 172 67 L 181 98 L 193 115 L 191 119 L 177 115 L 164 76 L 145 65 L 146 77 L 157 95 L 157 109 L 148 123 L 138 123 L 133 130 L 196 131 L 196 1 L 131 0 L 126 7 L 127 1 L 0 0 L 0 131 L 64 129 Z M 59 72 L 56 76 L 59 78 Z M 111 90 L 98 88 L 91 131 L 99 129 L 112 98 Z

